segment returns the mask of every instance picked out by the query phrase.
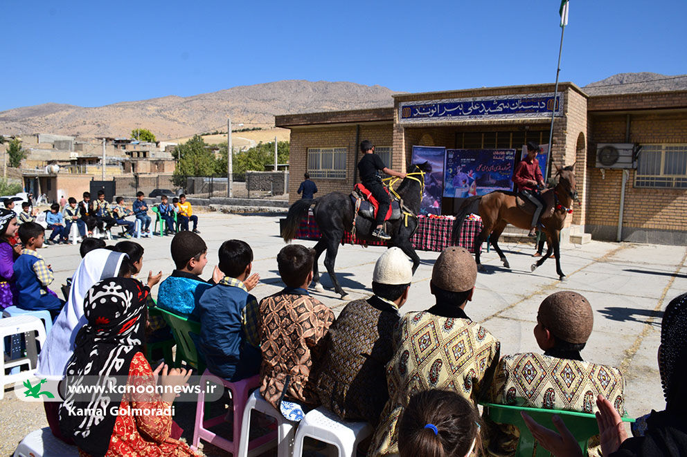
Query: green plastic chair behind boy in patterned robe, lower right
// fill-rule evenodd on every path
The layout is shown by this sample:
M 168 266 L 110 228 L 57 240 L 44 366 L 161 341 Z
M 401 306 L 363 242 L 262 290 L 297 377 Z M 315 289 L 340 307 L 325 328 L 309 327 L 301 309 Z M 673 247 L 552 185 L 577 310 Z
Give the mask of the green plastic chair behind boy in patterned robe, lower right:
M 530 433 L 530 429 L 525 425 L 525 420 L 520 416 L 521 412 L 527 413 L 539 425 L 548 429 L 553 429 L 552 418 L 554 414 L 560 416 L 565 422 L 566 427 L 573 434 L 582 449 L 582 455 L 587 456 L 587 440 L 594 435 L 598 435 L 599 427 L 596 423 L 596 416 L 588 413 L 578 413 L 576 411 L 560 411 L 557 409 L 538 409 L 527 407 L 516 407 L 505 404 L 484 403 L 483 417 L 489 418 L 497 424 L 515 425 L 520 431 L 520 440 L 517 445 L 516 456 L 520 457 L 546 457 L 551 454 L 540 446 Z M 629 418 L 623 418 L 625 422 L 634 422 Z

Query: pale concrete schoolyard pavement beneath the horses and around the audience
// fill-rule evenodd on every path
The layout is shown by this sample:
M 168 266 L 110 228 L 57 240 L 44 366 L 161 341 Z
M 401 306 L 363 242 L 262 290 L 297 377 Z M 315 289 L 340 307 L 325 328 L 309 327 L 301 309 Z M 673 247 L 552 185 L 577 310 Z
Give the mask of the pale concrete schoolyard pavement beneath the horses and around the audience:
M 278 236 L 280 216 L 209 213 L 199 217 L 199 230 L 208 244 L 204 277 L 211 275 L 222 241 L 238 238 L 253 248 L 253 271 L 260 273 L 261 281 L 253 294 L 261 299 L 280 290 L 283 285 L 276 265 L 276 254 L 284 245 Z M 139 241 L 145 248 L 140 279 L 145 281 L 148 270 L 162 270 L 163 277 L 172 272 L 170 240 L 171 237 L 156 236 Z M 314 245 L 313 241 L 295 242 Z M 595 311 L 594 332 L 582 357 L 622 369 L 627 380 L 626 406 L 631 416 L 665 407 L 656 362 L 661 316 L 670 299 L 687 292 L 687 248 L 600 242 L 569 245 L 562 249 L 562 268 L 568 280 L 560 282 L 552 260 L 530 273 L 533 245 L 503 243 L 502 247 L 512 269 L 503 269 L 494 252 L 484 253 L 482 261 L 488 266 L 488 272 L 479 274 L 474 299 L 466 312 L 501 340 L 503 354 L 539 351 L 532 333 L 539 303 L 556 290 L 575 290 L 589 299 Z M 374 263 L 382 252 L 384 248 L 351 245 L 339 249 L 337 272 L 350 299 L 371 295 Z M 59 290 L 59 285 L 71 277 L 80 261 L 78 245 L 49 246 L 40 253 L 53 266 L 54 285 Z M 419 255 L 422 264 L 413 277 L 409 300 L 402 312 L 422 310 L 434 304 L 429 294 L 429 279 L 438 253 L 419 252 Z M 321 257 L 319 262 L 322 270 L 323 260 Z M 322 283 L 325 288 L 331 285 L 327 274 L 323 274 Z M 345 303 L 330 289 L 321 294 L 311 292 L 337 312 Z M 157 291 L 153 290 L 153 296 L 156 295 Z M 188 412 L 185 408 L 182 417 L 177 417 L 186 429 L 184 436 L 188 440 L 193 435 L 194 416 L 194 408 L 189 406 Z M 47 425 L 42 407 L 15 399 L 10 386 L 0 401 L 0 422 L 3 424 L 2 456 L 10 455 L 26 433 Z M 217 454 L 215 449 L 206 450 L 208 454 Z

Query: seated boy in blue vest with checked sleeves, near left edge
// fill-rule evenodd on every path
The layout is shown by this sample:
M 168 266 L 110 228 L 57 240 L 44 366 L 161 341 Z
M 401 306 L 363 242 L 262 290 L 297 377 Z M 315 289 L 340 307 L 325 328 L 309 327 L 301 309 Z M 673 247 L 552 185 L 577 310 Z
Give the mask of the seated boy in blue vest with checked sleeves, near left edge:
M 43 245 L 45 230 L 35 222 L 21 224 L 19 239 L 24 244 L 24 249 L 14 265 L 19 291 L 17 306 L 23 310 L 48 310 L 54 319 L 60 313 L 64 301 L 48 289 L 55 279 L 53 270 L 36 252 Z

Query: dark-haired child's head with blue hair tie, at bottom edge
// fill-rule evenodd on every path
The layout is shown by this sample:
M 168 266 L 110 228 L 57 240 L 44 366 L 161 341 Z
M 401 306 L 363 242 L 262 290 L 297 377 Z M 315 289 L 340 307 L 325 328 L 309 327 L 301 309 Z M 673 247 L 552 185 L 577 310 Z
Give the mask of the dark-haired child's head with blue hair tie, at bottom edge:
M 413 395 L 398 421 L 400 457 L 467 457 L 481 454 L 481 420 L 474 404 L 453 391 Z

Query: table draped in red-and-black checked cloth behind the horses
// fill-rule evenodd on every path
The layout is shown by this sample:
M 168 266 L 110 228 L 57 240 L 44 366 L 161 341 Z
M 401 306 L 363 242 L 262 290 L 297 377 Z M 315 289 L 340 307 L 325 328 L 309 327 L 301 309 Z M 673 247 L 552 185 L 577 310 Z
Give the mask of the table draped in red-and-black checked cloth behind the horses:
M 448 248 L 451 243 L 451 232 L 453 230 L 454 217 L 453 216 L 418 216 L 418 230 L 411 238 L 413 248 L 422 251 L 441 252 Z M 474 252 L 474 237 L 482 230 L 482 221 L 471 221 L 466 219 L 463 223 L 461 236 L 458 245 Z M 296 239 L 301 240 L 318 240 L 321 234 L 315 222 L 312 212 L 308 212 L 307 218 L 303 218 L 301 224 L 296 231 Z M 385 246 L 385 241 L 362 241 L 355 240 L 350 232 L 344 232 L 343 244 L 359 244 L 359 245 L 373 245 Z

